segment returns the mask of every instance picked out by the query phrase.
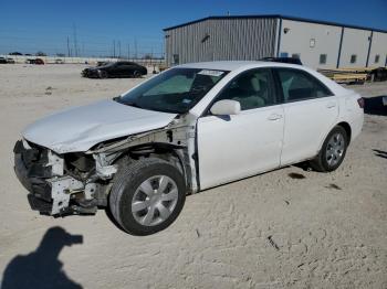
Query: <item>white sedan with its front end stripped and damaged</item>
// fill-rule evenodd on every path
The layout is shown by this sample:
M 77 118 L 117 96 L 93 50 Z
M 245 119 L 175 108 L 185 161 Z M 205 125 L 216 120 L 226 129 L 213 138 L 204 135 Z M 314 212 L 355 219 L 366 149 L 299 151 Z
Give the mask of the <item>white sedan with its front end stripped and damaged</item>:
M 38 120 L 14 168 L 33 210 L 107 207 L 123 229 L 148 235 L 176 220 L 186 194 L 306 160 L 337 169 L 362 126 L 363 98 L 312 69 L 186 64 Z

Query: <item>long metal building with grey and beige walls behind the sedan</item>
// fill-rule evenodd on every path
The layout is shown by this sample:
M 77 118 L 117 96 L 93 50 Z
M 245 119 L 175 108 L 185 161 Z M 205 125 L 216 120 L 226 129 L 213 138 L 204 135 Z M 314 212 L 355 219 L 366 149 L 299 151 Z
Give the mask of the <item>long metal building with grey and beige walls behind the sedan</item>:
M 313 68 L 387 65 L 387 31 L 284 15 L 208 17 L 164 29 L 167 65 L 300 57 Z

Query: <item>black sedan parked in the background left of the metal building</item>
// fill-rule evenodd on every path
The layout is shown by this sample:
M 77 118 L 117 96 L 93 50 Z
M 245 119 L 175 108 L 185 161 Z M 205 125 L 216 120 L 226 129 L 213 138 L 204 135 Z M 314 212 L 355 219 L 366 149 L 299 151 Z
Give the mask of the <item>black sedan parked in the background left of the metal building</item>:
M 90 78 L 142 77 L 147 73 L 146 67 L 137 63 L 119 61 L 85 68 L 82 71 L 82 76 Z

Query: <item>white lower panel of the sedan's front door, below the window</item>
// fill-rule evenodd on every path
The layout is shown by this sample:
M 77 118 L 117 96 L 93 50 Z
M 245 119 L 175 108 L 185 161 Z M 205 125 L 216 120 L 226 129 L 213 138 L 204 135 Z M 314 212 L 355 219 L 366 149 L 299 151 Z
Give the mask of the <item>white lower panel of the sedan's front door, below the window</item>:
M 201 117 L 198 120 L 200 188 L 280 167 L 283 122 L 281 105 L 234 116 Z

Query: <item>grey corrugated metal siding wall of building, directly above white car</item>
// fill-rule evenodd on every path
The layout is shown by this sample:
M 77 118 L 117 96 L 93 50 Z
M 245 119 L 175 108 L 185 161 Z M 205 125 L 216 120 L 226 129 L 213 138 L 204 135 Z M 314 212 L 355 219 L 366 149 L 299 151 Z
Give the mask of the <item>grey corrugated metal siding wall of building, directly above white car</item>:
M 274 56 L 276 24 L 274 18 L 211 19 L 166 31 L 166 62 L 171 65 L 174 54 L 180 64 Z

